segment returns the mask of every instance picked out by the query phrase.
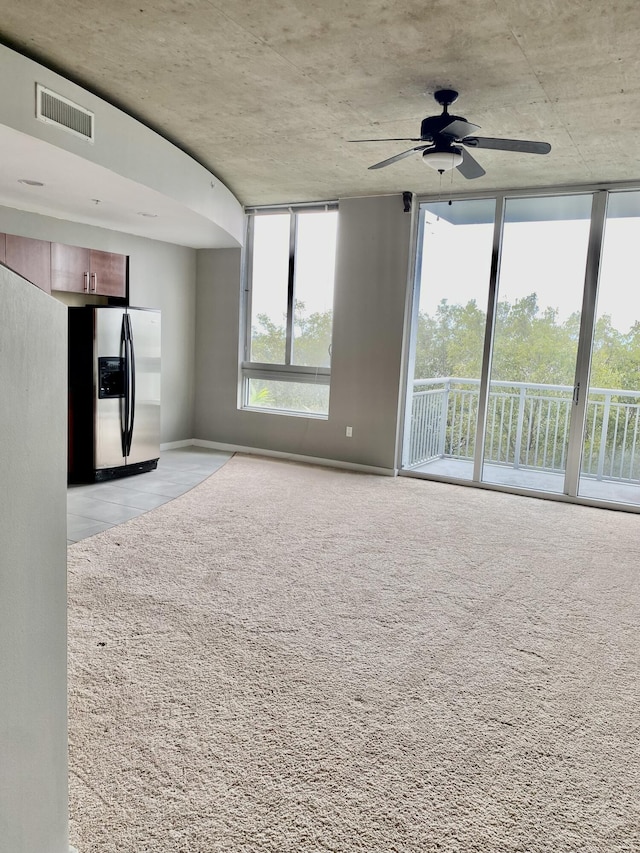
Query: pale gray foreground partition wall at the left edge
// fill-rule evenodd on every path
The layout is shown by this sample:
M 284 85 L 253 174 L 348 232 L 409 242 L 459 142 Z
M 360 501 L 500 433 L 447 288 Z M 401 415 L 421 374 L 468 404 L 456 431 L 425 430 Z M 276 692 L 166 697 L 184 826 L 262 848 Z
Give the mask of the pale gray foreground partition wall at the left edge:
M 0 265 L 0 850 L 67 842 L 66 311 Z

